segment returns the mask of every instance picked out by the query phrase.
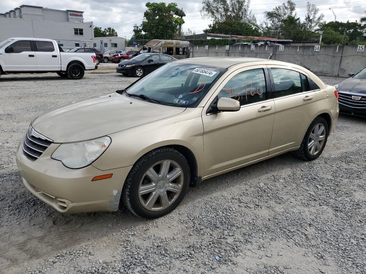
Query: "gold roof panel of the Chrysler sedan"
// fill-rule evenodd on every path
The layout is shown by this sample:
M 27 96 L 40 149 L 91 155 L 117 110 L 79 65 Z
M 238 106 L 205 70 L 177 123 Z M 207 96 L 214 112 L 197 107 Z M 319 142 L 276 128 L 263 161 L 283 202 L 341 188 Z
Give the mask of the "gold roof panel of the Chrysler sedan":
M 220 68 L 228 68 L 236 64 L 242 64 L 247 62 L 268 62 L 268 63 L 279 63 L 287 64 L 286 62 L 265 59 L 265 58 L 254 58 L 254 57 L 195 57 L 180 59 L 176 62 L 184 64 L 197 64 L 197 65 L 208 65 L 208 66 L 218 66 Z

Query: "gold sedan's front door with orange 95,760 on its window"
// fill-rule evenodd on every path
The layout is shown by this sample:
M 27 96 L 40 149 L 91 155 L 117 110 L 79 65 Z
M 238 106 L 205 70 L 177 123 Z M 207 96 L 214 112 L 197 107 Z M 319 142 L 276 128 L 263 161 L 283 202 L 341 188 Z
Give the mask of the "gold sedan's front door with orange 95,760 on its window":
M 203 109 L 205 176 L 268 156 L 275 114 L 270 90 L 263 65 L 238 69 L 220 84 L 213 102 L 229 97 L 239 100 L 241 107 L 239 111 L 219 113 L 207 113 L 207 106 Z

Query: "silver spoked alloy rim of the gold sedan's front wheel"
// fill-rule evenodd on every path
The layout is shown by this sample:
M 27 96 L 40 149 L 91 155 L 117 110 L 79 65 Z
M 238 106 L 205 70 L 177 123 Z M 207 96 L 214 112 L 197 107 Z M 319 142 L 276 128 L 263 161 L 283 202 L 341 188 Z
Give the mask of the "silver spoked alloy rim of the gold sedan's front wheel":
M 178 163 L 160 161 L 142 176 L 138 189 L 139 200 L 147 210 L 163 210 L 178 198 L 183 182 L 183 171 Z

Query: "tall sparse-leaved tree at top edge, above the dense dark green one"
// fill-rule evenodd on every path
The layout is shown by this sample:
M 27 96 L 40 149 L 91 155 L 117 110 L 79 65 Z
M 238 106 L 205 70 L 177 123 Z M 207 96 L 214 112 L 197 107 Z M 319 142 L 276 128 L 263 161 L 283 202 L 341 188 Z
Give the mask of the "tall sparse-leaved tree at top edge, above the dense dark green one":
M 243 21 L 253 26 L 257 19 L 249 10 L 250 0 L 203 0 L 201 15 L 210 18 L 213 23 L 225 21 Z

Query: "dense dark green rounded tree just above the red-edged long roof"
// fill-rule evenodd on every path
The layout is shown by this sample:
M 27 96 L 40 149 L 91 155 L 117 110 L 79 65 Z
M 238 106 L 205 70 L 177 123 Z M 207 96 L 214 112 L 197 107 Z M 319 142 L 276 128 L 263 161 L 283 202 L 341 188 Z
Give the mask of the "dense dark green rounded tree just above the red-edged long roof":
M 203 30 L 204 33 L 223 33 L 233 35 L 249 35 L 260 36 L 258 28 L 252 27 L 251 24 L 239 20 L 230 20 L 224 22 L 215 22 L 209 24 L 208 29 Z

